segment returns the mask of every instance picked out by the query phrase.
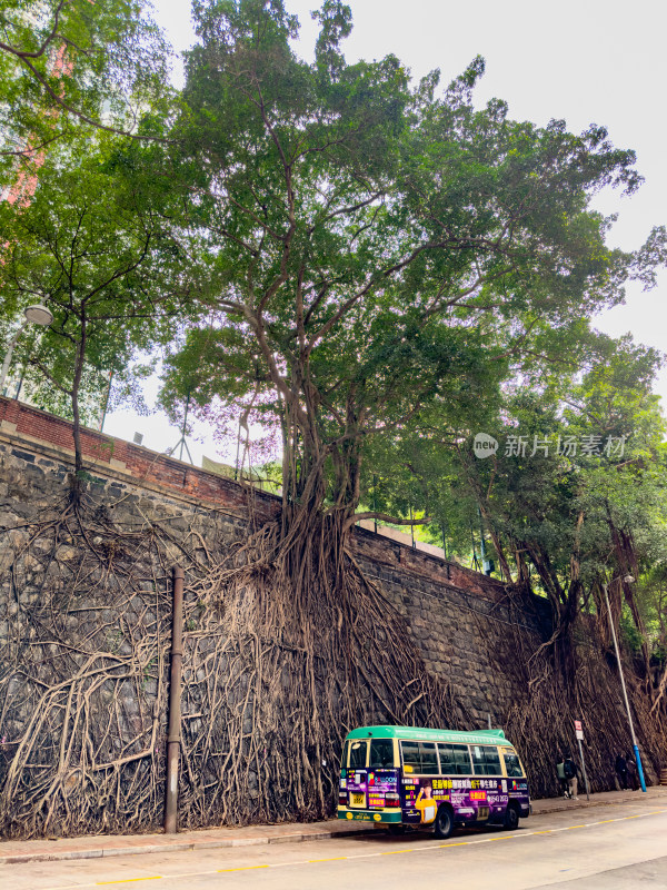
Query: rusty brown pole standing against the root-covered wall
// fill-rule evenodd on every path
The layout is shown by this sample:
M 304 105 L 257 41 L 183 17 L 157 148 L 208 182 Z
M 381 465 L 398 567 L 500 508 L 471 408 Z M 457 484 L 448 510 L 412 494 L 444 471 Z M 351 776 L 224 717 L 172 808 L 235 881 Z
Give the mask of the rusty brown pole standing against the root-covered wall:
M 167 734 L 167 800 L 165 833 L 175 834 L 178 815 L 178 767 L 180 760 L 180 699 L 183 660 L 183 570 L 173 566 L 173 616 L 169 675 L 169 730 Z

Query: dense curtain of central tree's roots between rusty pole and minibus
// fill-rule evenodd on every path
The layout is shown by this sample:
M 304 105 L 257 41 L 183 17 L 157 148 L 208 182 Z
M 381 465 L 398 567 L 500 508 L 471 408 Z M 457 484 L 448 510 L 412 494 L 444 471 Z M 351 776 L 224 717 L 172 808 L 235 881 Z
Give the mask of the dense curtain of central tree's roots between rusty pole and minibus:
M 181 799 L 187 824 L 322 818 L 350 729 L 465 721 L 326 522 L 287 546 L 278 525 L 262 528 L 192 594 L 205 626 L 189 635 L 188 662 L 205 675 L 189 671 L 183 696 L 201 715 L 186 726 L 198 754 Z

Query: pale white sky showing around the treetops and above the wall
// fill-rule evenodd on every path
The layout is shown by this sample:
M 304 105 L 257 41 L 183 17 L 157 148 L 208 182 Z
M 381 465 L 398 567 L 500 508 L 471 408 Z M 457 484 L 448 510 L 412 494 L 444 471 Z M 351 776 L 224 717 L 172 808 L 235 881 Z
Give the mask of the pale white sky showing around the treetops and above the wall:
M 153 0 L 156 14 L 173 47 L 195 40 L 188 0 Z M 416 78 L 434 68 L 447 85 L 477 55 L 486 75 L 475 96 L 479 105 L 504 99 L 515 119 L 545 125 L 564 118 L 573 131 L 604 125 L 619 148 L 637 152 L 646 181 L 633 198 L 609 191 L 596 202 L 619 214 L 609 244 L 626 250 L 641 246 L 650 228 L 667 222 L 665 90 L 667 8 L 659 0 L 348 0 L 355 29 L 344 46 L 348 61 L 394 52 Z M 301 52 L 310 58 L 316 38 L 310 10 L 318 0 L 287 0 L 301 22 Z M 667 274 L 648 294 L 628 288 L 627 303 L 597 320 L 613 336 L 630 332 L 639 343 L 667 350 Z M 667 369 L 656 386 L 667 404 Z M 150 400 L 150 393 L 147 394 Z M 104 432 L 123 438 L 143 433 L 143 444 L 165 451 L 180 432 L 159 415 L 109 415 Z M 207 436 L 196 429 L 196 436 Z M 189 439 L 196 463 L 216 455 L 216 445 Z

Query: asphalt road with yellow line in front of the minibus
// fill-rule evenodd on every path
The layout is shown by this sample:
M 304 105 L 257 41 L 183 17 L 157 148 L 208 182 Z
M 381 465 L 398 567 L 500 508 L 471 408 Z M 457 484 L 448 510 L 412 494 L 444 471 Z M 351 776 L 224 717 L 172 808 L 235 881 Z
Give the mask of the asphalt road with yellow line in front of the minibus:
M 531 817 L 514 832 L 384 832 L 308 843 L 0 867 L 2 890 L 667 890 L 667 807 L 640 800 Z

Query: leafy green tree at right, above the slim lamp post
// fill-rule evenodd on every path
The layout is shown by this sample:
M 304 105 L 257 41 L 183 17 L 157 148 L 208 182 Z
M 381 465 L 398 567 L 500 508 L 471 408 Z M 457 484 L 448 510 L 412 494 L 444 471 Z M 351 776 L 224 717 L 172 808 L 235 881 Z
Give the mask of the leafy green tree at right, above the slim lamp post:
M 478 533 L 479 511 L 501 577 L 548 600 L 549 642 L 569 681 L 577 620 L 581 612 L 601 614 L 601 639 L 609 643 L 601 584 L 648 568 L 660 550 L 666 508 L 664 419 L 650 393 L 660 356 L 629 338 L 600 335 L 587 353 L 560 374 L 508 389 L 495 418 L 482 415 L 481 424 L 459 427 L 458 435 L 426 414 L 392 455 L 399 464 L 411 462 L 418 507 L 442 512 L 445 502 L 454 523 L 465 515 Z M 500 446 L 484 461 L 472 452 L 481 431 Z M 440 471 L 448 476 L 442 492 Z M 448 500 L 451 487 L 456 504 Z M 617 617 L 621 592 L 646 641 L 633 585 L 614 586 Z M 640 650 L 648 674 L 646 642 Z

